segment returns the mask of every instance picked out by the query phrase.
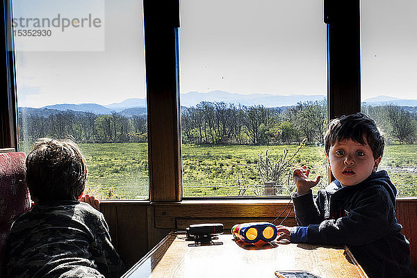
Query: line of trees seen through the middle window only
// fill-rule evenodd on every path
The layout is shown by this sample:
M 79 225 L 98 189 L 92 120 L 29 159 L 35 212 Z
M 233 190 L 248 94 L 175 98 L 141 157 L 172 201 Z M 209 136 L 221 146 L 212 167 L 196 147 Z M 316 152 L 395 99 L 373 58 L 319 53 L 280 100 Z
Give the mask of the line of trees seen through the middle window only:
M 322 142 L 326 126 L 324 99 L 284 108 L 202 101 L 181 113 L 183 142 L 197 144 Z

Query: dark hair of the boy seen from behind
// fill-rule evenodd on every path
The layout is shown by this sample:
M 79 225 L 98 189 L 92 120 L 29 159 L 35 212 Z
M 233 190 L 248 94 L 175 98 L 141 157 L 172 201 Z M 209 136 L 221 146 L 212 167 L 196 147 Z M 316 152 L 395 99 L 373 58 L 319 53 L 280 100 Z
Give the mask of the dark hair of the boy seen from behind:
M 40 138 L 26 158 L 26 183 L 39 201 L 78 200 L 87 176 L 85 158 L 72 140 Z

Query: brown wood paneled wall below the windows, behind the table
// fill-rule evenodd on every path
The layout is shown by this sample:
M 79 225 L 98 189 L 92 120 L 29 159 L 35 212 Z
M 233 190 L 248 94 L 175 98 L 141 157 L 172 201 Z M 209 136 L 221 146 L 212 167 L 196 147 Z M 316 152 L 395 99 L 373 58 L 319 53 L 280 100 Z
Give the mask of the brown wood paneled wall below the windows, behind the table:
M 220 222 L 224 229 L 234 224 L 272 221 L 286 208 L 279 202 L 240 201 L 236 203 L 206 201 L 150 204 L 149 202 L 102 202 L 101 212 L 111 231 L 112 242 L 126 266 L 131 267 L 152 249 L 169 231 L 186 229 L 189 224 Z M 290 204 L 279 224 L 295 225 Z M 291 211 L 291 212 L 290 212 Z M 417 269 L 417 199 L 398 199 L 397 218 L 402 234 L 410 242 L 411 260 Z

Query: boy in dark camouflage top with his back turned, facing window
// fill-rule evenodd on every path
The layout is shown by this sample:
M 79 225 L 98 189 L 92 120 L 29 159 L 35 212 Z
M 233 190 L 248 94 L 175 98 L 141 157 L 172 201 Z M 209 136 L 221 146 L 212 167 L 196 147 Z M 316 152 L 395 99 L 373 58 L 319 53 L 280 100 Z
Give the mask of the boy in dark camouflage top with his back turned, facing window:
M 11 228 L 8 277 L 122 275 L 124 265 L 103 214 L 78 201 L 87 176 L 85 159 L 71 140 L 35 142 L 26 158 L 26 183 L 35 206 Z

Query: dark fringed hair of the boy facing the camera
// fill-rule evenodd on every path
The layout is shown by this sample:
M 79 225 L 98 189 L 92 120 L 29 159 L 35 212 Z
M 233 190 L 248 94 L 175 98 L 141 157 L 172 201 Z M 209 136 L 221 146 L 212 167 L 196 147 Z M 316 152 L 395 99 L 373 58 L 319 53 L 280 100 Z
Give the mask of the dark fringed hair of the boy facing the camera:
M 384 154 L 385 139 L 379 132 L 377 124 L 370 117 L 363 113 L 343 115 L 329 123 L 325 135 L 325 152 L 329 155 L 329 150 L 336 141 L 353 140 L 359 144 L 365 144 L 365 140 L 372 149 L 374 159 L 382 157 Z

